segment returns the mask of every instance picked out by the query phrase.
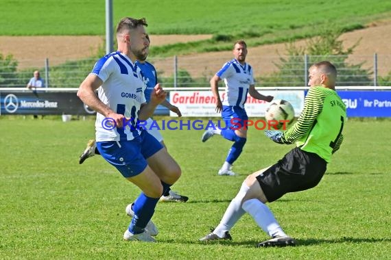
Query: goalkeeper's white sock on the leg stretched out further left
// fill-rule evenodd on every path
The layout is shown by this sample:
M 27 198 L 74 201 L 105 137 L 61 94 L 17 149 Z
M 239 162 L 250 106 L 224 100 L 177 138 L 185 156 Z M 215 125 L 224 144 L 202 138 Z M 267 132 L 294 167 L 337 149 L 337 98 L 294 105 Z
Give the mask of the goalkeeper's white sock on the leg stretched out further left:
M 231 200 L 230 205 L 228 205 L 226 212 L 224 213 L 224 216 L 220 221 L 220 224 L 216 227 L 213 233 L 215 233 L 219 237 L 224 237 L 226 231 L 230 231 L 230 229 L 233 228 L 237 220 L 239 220 L 241 216 L 246 213 L 246 211 L 241 208 L 241 200 L 243 200 L 244 195 L 246 195 L 248 189 L 250 189 L 250 187 L 248 187 L 248 185 L 243 182 L 241 184 L 239 192 L 237 193 L 235 198 Z

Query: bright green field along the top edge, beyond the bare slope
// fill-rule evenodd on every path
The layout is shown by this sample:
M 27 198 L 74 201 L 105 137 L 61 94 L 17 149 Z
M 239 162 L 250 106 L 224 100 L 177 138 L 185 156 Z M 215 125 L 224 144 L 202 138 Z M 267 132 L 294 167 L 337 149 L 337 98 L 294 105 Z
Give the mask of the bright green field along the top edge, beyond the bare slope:
M 150 34 L 255 34 L 388 18 L 390 1 L 149 0 L 113 2 L 123 16 L 146 17 Z M 1 0 L 0 35 L 105 35 L 105 1 Z

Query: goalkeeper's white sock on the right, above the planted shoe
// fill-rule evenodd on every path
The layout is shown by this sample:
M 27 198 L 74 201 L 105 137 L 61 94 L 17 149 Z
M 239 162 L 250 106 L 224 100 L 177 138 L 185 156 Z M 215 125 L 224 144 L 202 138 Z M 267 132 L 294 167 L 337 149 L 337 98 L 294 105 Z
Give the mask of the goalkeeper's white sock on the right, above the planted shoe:
M 268 233 L 270 237 L 286 235 L 283 229 L 281 229 L 279 222 L 274 218 L 272 211 L 270 211 L 268 206 L 261 203 L 261 200 L 257 198 L 246 200 L 243 203 L 243 209 L 254 218 L 258 226 Z

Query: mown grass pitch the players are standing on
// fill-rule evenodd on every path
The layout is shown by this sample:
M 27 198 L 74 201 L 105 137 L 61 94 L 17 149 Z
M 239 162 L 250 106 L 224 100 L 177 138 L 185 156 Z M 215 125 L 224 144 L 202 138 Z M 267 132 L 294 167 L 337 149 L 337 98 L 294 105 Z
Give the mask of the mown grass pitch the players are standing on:
M 185 118 L 187 119 L 187 118 Z M 192 118 L 189 118 L 190 120 Z M 267 239 L 244 216 L 232 242 L 201 244 L 247 174 L 292 146 L 250 129 L 236 177 L 217 176 L 230 142 L 206 143 L 202 131 L 163 131 L 182 167 L 173 190 L 187 203 L 158 203 L 158 243 L 123 242 L 125 207 L 139 194 L 101 157 L 78 164 L 94 121 L 0 118 L 0 259 L 389 259 L 391 246 L 390 120 L 348 120 L 345 140 L 312 190 L 269 207 L 293 248 L 255 248 Z M 160 124 L 159 124 L 160 125 Z

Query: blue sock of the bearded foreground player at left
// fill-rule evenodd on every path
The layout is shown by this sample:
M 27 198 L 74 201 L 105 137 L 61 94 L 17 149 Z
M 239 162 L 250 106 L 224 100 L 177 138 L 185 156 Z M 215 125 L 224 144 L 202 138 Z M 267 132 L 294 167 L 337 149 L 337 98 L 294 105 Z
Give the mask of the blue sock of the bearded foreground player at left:
M 138 234 L 144 232 L 145 226 L 147 226 L 147 223 L 154 215 L 158 200 L 159 198 L 147 197 L 141 192 L 140 196 L 134 201 L 134 207 L 132 208 L 134 217 L 128 227 L 130 233 Z

